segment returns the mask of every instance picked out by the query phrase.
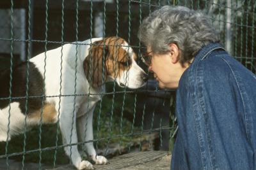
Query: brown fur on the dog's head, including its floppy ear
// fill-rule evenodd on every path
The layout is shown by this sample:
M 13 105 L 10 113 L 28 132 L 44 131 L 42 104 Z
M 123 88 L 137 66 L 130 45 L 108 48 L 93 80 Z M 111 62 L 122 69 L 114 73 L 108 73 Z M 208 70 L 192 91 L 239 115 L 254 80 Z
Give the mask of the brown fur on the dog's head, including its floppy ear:
M 120 78 L 124 70 L 131 67 L 131 56 L 122 48 L 124 43 L 125 40 L 122 38 L 108 37 L 95 41 L 90 47 L 83 66 L 86 78 L 92 87 L 102 85 L 108 75 L 112 78 Z

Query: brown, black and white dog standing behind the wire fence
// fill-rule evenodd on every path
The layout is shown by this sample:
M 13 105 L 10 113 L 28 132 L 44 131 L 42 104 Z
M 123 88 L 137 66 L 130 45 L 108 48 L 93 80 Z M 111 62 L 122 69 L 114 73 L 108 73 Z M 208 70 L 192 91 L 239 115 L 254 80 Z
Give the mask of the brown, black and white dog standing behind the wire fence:
M 80 45 L 67 44 L 40 53 L 28 63 L 14 67 L 11 103 L 7 99 L 10 70 L 0 73 L 0 98 L 6 97 L 0 99 L 0 141 L 10 140 L 13 135 L 24 132 L 25 125 L 28 129 L 41 120 L 43 124 L 60 121 L 63 145 L 90 141 L 93 139 L 93 110 L 100 94 L 104 93 L 104 82 L 115 80 L 120 86 L 136 89 L 147 81 L 147 74 L 136 64 L 136 54 L 124 39 L 93 38 L 78 43 Z M 96 164 L 108 162 L 97 155 L 92 142 L 84 146 Z M 93 169 L 90 162 L 81 159 L 76 145 L 66 146 L 65 152 L 71 155 L 77 169 Z

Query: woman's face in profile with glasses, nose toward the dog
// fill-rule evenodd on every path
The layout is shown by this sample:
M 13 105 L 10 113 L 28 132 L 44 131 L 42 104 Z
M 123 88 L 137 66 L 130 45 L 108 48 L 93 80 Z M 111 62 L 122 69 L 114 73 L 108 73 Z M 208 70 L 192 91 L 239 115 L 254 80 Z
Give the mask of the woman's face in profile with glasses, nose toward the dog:
M 175 48 L 175 49 L 173 49 Z M 179 80 L 187 67 L 182 67 L 179 62 L 179 48 L 177 45 L 170 46 L 170 52 L 156 54 L 150 46 L 147 47 L 148 55 L 151 55 L 151 64 L 148 70 L 154 73 L 162 89 L 177 89 Z

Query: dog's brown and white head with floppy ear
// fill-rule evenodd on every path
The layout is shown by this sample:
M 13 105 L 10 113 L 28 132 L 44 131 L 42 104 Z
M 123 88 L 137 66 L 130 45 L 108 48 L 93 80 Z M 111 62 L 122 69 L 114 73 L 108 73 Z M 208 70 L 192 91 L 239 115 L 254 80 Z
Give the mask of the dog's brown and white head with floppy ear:
M 121 87 L 136 89 L 148 78 L 135 60 L 136 54 L 124 39 L 104 38 L 94 41 L 89 48 L 83 62 L 84 73 L 92 87 L 99 87 L 106 80 L 115 80 Z

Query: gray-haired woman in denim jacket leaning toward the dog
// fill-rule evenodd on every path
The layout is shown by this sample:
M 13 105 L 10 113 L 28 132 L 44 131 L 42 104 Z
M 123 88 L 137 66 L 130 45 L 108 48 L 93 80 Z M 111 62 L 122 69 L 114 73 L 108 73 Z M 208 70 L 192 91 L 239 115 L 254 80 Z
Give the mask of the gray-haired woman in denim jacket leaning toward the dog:
M 163 6 L 138 37 L 159 87 L 177 89 L 171 169 L 255 169 L 256 76 L 225 52 L 209 18 Z

